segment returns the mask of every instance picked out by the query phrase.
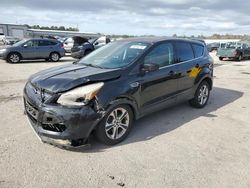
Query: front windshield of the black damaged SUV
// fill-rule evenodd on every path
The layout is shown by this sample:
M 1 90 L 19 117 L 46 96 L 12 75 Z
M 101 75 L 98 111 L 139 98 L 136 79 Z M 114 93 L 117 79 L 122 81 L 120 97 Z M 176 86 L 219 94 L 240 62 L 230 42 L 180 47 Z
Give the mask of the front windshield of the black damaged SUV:
M 109 43 L 81 59 L 79 63 L 107 69 L 125 67 L 139 57 L 149 45 L 141 42 Z

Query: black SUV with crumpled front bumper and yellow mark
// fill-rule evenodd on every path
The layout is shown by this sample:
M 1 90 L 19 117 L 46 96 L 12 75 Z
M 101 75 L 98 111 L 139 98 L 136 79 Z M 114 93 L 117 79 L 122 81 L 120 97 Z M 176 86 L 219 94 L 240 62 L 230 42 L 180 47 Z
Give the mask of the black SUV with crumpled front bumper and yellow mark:
M 43 142 L 65 147 L 121 142 L 134 120 L 189 100 L 204 107 L 213 60 L 204 43 L 173 38 L 112 42 L 78 62 L 34 74 L 24 88 L 28 119 Z

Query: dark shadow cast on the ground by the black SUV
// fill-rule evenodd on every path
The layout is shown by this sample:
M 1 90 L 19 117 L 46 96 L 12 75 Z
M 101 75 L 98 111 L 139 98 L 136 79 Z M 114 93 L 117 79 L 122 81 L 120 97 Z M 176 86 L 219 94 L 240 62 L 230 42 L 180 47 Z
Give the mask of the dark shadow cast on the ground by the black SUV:
M 192 108 L 187 103 L 182 103 L 172 108 L 155 112 L 136 121 L 129 136 L 118 145 L 106 146 L 97 142 L 94 138 L 91 138 L 91 147 L 89 149 L 78 149 L 75 150 L 75 152 L 103 152 L 110 147 L 153 139 L 159 135 L 173 131 L 200 116 L 214 118 L 216 117 L 216 115 L 213 114 L 214 111 L 229 105 L 241 98 L 242 95 L 242 92 L 236 90 L 214 87 L 207 106 L 202 109 Z

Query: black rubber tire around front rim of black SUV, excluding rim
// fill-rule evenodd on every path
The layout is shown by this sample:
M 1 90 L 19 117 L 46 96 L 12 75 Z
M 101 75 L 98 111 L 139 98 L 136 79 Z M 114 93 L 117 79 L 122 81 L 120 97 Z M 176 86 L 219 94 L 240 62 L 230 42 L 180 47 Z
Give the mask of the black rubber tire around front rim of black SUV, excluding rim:
M 113 140 L 113 139 L 110 139 L 106 135 L 105 125 L 106 125 L 106 120 L 107 120 L 108 116 L 116 108 L 124 108 L 124 109 L 127 110 L 128 114 L 129 114 L 129 126 L 127 128 L 127 131 L 125 132 L 125 134 L 121 138 Z M 120 143 L 121 141 L 123 141 L 128 136 L 128 134 L 129 134 L 129 132 L 130 132 L 132 126 L 133 126 L 133 122 L 134 122 L 134 114 L 133 114 L 133 111 L 130 108 L 130 106 L 128 106 L 126 104 L 115 105 L 115 106 L 111 107 L 108 110 L 108 112 L 106 113 L 106 115 L 104 116 L 104 118 L 102 119 L 102 121 L 97 126 L 96 137 L 97 137 L 97 139 L 99 141 L 101 141 L 102 143 L 104 143 L 106 145 L 115 145 L 115 144 L 118 144 L 118 143 Z

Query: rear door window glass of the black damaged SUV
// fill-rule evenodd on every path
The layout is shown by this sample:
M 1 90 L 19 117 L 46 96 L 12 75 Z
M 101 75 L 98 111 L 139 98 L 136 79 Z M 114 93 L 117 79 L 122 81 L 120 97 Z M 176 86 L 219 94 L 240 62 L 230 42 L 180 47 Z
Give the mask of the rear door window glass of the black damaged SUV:
M 187 42 L 176 42 L 176 63 L 194 59 L 194 53 L 191 45 Z

